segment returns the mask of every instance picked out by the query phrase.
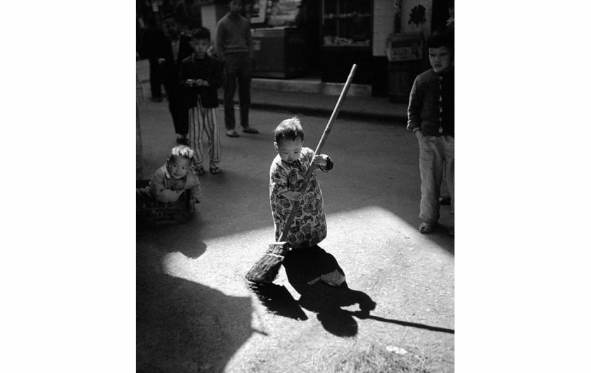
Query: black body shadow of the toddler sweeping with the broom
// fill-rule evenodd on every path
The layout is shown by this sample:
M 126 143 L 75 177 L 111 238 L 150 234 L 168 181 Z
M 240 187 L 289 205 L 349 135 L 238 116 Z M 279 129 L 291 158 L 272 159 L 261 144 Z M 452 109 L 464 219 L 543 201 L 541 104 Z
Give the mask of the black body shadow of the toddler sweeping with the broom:
M 357 304 L 359 312 L 367 315 L 376 308 L 376 303 L 366 293 L 349 289 L 346 281 L 340 286 L 331 286 L 323 281 L 308 284 L 322 274 L 334 270 L 345 275 L 336 258 L 319 246 L 291 251 L 286 255 L 283 265 L 289 283 L 301 295 L 299 305 L 315 312 L 324 329 L 331 334 L 357 334 L 357 322 L 353 318 L 355 312 L 343 310 L 341 307 Z

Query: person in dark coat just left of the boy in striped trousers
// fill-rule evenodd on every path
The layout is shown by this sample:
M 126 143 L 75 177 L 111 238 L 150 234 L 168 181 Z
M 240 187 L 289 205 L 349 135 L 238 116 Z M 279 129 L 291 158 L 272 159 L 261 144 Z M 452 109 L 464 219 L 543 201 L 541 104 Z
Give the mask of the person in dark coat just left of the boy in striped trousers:
M 176 20 L 165 20 L 167 37 L 160 50 L 158 62 L 163 67 L 164 87 L 168 96 L 168 109 L 172 115 L 174 132 L 177 133 L 177 142 L 186 144 L 189 133 L 189 110 L 186 106 L 184 91 L 179 84 L 179 71 L 184 58 L 191 56 L 193 50 L 189 43 L 191 37 L 180 32 Z

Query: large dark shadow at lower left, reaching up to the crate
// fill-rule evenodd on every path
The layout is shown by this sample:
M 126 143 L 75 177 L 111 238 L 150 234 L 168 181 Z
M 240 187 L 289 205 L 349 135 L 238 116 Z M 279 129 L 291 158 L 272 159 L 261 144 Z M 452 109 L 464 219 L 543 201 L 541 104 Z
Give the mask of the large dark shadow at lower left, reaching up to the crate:
M 186 231 L 183 225 L 138 228 L 136 372 L 222 372 L 253 334 L 250 297 L 162 273 L 166 253 L 205 253 L 198 231 Z M 170 236 L 181 239 L 165 239 Z

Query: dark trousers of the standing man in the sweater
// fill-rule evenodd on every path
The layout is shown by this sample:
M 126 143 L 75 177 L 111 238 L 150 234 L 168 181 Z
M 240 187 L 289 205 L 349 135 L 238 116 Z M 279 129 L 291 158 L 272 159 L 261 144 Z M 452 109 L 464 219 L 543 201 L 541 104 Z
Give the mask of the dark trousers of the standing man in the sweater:
M 240 101 L 240 125 L 248 127 L 248 109 L 250 108 L 250 80 L 253 65 L 249 53 L 228 53 L 224 61 L 224 117 L 226 129 L 236 128 L 234 115 L 234 93 L 238 81 Z

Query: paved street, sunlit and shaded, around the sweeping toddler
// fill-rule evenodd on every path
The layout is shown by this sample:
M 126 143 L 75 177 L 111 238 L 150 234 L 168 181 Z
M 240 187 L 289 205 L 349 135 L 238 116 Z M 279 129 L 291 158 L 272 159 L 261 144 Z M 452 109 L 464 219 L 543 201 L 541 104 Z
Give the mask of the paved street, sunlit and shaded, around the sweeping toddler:
M 144 92 L 149 97 L 145 83 Z M 219 114 L 223 127 L 221 106 Z M 418 232 L 418 146 L 404 122 L 336 120 L 323 149 L 335 167 L 319 173 L 328 223 L 320 246 L 349 288 L 376 303 L 370 317 L 358 317 L 355 305 L 326 315 L 301 302 L 298 317 L 273 313 L 247 288 L 244 274 L 274 241 L 271 132 L 292 115 L 251 111 L 261 133 L 222 136 L 222 174 L 200 177 L 203 198 L 191 221 L 137 230 L 138 371 L 322 372 L 307 364 L 330 367 L 391 345 L 422 359 L 429 372 L 453 372 L 454 334 L 428 329 L 454 329 L 454 241 L 445 229 L 453 217 L 443 206 L 443 227 Z M 146 100 L 140 118 L 148 179 L 176 135 L 166 102 Z M 328 117 L 300 119 L 304 145 L 314 149 Z M 300 298 L 284 269 L 275 284 Z

